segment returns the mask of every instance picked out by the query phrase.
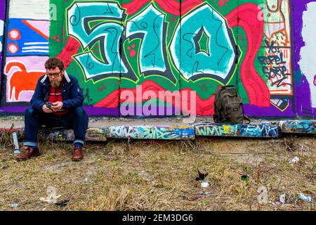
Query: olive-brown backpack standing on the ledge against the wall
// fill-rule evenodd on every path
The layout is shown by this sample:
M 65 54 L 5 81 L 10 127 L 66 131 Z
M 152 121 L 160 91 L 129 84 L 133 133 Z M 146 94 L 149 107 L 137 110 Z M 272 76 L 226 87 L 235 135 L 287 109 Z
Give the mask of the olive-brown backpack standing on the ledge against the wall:
M 223 86 L 215 93 L 214 122 L 243 124 L 244 120 L 250 123 L 249 117 L 244 115 L 242 100 L 234 86 Z

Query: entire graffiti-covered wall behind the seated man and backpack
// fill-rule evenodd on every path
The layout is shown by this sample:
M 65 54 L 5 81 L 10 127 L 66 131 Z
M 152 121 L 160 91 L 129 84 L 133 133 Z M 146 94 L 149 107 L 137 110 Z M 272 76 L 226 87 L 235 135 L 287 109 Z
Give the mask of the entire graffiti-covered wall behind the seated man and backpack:
M 247 115 L 315 117 L 315 4 L 11 0 L 0 110 L 25 110 L 57 56 L 89 115 L 213 115 L 216 90 L 235 85 Z

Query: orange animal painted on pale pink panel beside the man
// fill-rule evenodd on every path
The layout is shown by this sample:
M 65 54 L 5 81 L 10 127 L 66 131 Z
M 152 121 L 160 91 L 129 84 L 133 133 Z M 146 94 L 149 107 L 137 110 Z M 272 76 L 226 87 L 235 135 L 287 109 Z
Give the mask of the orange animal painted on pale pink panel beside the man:
M 10 79 L 10 99 L 13 97 L 13 88 L 15 89 L 14 99 L 18 101 L 20 93 L 22 91 L 34 91 L 37 86 L 37 81 L 39 77 L 41 77 L 44 72 L 29 72 L 25 65 L 20 62 L 11 62 L 6 65 L 6 74 L 13 67 L 18 67 L 20 71 L 13 72 Z

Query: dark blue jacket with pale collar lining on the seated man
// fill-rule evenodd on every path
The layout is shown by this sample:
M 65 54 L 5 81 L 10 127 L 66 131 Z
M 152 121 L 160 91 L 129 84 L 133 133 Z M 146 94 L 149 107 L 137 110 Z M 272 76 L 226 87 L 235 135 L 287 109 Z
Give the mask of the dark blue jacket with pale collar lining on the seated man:
M 31 99 L 32 108 L 44 112 L 43 105 L 48 101 L 50 86 L 51 82 L 47 75 L 39 78 Z M 84 96 L 81 94 L 78 80 L 65 72 L 64 77 L 62 77 L 62 109 L 72 110 L 81 106 L 83 102 Z

